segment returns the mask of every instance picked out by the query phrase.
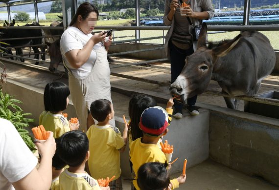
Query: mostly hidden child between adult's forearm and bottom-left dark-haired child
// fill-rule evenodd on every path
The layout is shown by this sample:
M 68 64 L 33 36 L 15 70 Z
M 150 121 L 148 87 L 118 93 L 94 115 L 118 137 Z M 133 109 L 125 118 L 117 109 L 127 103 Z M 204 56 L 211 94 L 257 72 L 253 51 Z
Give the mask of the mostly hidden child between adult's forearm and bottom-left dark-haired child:
M 57 143 L 58 139 L 55 139 Z M 40 155 L 40 154 L 39 154 Z M 52 157 L 52 181 L 50 190 L 60 190 L 59 175 L 64 171 L 66 164 L 60 159 L 57 152 Z

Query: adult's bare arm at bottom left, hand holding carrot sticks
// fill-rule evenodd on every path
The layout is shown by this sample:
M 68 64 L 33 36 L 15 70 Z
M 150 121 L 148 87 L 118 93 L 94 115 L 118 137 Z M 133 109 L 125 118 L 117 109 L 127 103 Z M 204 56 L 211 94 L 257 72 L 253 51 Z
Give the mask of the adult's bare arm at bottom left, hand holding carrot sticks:
M 12 183 L 16 190 L 49 190 L 51 185 L 52 157 L 56 150 L 56 143 L 53 132 L 49 132 L 49 137 L 45 143 L 36 143 L 42 156 L 38 169 L 34 168 L 29 174 L 17 182 Z

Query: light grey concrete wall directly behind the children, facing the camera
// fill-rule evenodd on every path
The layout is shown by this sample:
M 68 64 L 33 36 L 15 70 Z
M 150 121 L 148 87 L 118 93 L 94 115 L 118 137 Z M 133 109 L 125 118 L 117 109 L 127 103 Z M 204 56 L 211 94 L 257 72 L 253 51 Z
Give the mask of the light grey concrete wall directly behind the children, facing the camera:
M 35 119 L 35 122 L 32 125 L 38 126 L 39 116 L 44 111 L 43 90 L 12 80 L 9 80 L 3 89 L 24 103 L 21 105 L 23 111 L 33 113 L 30 118 Z M 69 114 L 69 118 L 76 115 L 71 101 L 65 112 Z M 191 117 L 189 114 L 184 116 L 181 120 L 173 119 L 169 132 L 163 137 L 163 140 L 168 140 L 169 144 L 174 146 L 172 160 L 179 157 L 170 173 L 181 171 L 185 158 L 188 160 L 187 167 L 192 167 L 209 157 L 209 110 L 201 110 L 200 115 L 196 117 Z M 116 113 L 115 119 L 116 127 L 123 131 L 122 115 Z M 129 145 L 120 155 L 122 176 L 130 178 Z

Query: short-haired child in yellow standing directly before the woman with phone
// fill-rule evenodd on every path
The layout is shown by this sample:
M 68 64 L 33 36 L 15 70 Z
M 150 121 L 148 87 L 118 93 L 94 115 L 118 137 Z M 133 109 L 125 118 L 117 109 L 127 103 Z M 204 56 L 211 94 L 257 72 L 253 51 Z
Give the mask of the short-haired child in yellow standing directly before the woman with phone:
M 109 100 L 95 100 L 90 106 L 90 112 L 98 124 L 92 125 L 86 133 L 89 150 L 92 152 L 88 160 L 89 171 L 95 179 L 115 175 L 116 180 L 110 182 L 110 188 L 122 190 L 119 150 L 125 148 L 128 127 L 124 128 L 121 137 L 119 129 L 110 126 L 109 121 L 114 118 L 115 112 Z

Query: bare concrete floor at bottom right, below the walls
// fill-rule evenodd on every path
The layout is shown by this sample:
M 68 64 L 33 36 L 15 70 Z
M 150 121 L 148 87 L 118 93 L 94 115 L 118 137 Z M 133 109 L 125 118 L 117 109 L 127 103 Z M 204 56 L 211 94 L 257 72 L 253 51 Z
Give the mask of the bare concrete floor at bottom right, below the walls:
M 176 178 L 181 173 L 171 175 Z M 186 170 L 186 182 L 180 190 L 279 190 L 264 180 L 257 179 L 207 160 Z M 122 180 L 123 190 L 130 190 L 130 181 Z

